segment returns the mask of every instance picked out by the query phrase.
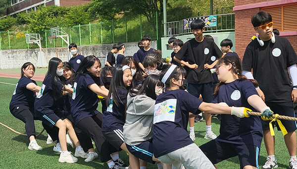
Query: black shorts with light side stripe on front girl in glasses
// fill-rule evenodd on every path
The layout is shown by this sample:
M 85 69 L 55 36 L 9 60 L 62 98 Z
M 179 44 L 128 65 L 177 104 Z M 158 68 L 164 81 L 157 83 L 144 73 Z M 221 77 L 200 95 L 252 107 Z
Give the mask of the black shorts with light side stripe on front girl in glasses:
M 199 147 L 212 164 L 238 156 L 240 168 L 245 166 L 258 166 L 260 147 L 249 144 L 233 144 L 211 140 Z

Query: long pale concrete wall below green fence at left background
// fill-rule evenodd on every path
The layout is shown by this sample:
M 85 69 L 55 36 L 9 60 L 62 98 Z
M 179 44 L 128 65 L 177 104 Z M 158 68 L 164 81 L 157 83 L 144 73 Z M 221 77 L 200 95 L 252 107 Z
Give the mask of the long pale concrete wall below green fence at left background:
M 126 52 L 125 56 L 133 56 L 139 48 L 138 42 L 124 43 Z M 78 47 L 79 53 L 83 56 L 95 55 L 99 57 L 102 65 L 105 63 L 107 53 L 111 51 L 113 44 L 89 45 Z M 151 48 L 157 49 L 157 42 L 152 41 Z M 46 48 L 46 53 L 42 52 L 46 57 L 48 64 L 51 57 L 59 57 L 62 61 L 68 61 L 68 48 Z M 30 61 L 38 67 L 38 55 L 40 49 L 18 49 L 18 50 L 0 50 L 0 69 L 20 68 L 25 62 Z M 115 56 L 117 56 L 115 54 Z

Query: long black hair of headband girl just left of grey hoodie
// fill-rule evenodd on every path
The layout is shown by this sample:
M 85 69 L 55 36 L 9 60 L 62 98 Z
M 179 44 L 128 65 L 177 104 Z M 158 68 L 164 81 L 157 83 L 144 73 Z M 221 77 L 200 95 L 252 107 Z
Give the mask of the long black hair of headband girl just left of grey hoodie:
M 109 100 L 112 95 L 113 103 L 115 103 L 116 106 L 120 106 L 120 104 L 123 104 L 120 97 L 118 96 L 118 88 L 121 87 L 123 89 L 129 90 L 130 87 L 125 87 L 124 81 L 123 81 L 123 66 L 124 64 L 118 64 L 113 69 L 112 79 L 110 82 L 109 92 L 108 96 L 106 98 L 106 106 L 109 105 Z

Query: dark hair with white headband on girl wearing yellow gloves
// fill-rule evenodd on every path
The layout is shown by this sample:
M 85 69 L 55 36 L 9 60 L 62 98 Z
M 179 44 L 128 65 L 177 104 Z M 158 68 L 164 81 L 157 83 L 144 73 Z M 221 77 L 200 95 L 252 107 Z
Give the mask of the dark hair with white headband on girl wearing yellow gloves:
M 172 66 L 173 64 L 164 64 L 162 66 L 162 71 L 160 72 L 159 76 L 160 76 L 160 81 L 162 80 L 162 78 L 164 77 L 165 73 L 167 72 L 167 70 L 170 68 L 170 66 Z M 172 71 L 172 73 L 170 74 L 170 76 L 168 77 L 168 79 L 166 80 L 165 82 L 165 86 L 166 87 L 170 87 L 170 82 L 171 82 L 171 79 L 179 79 L 179 77 L 182 75 L 182 78 L 185 77 L 186 75 L 186 71 L 184 68 L 182 67 L 178 67 L 176 66 L 174 68 L 174 70 Z

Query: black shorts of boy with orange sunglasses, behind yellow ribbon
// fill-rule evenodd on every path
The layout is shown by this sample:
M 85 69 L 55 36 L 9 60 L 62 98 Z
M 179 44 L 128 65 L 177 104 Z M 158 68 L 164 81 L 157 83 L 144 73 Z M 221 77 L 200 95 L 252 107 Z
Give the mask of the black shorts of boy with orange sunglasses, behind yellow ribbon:
M 265 104 L 271 109 L 271 111 L 275 114 L 286 115 L 290 117 L 295 117 L 294 105 L 293 102 L 265 102 Z M 271 120 L 262 120 L 262 128 L 263 130 L 269 130 L 269 122 Z M 296 121 L 289 120 L 281 120 L 282 124 L 285 126 L 288 133 L 293 132 L 297 129 Z M 272 122 L 272 126 L 277 126 L 277 129 L 280 131 L 280 127 L 276 121 Z

